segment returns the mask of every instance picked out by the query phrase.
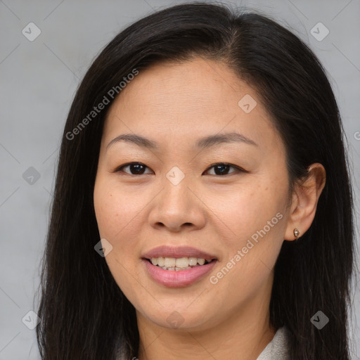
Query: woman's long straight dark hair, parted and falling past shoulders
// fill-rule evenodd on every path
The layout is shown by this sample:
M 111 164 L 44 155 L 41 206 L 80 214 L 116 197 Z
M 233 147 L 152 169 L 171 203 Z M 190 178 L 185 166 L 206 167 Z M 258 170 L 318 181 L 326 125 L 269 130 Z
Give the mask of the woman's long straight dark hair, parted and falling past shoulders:
M 304 42 L 267 16 L 204 2 L 165 8 L 127 27 L 105 46 L 77 89 L 63 133 L 41 262 L 41 358 L 137 355 L 135 309 L 94 250 L 100 240 L 93 192 L 103 123 L 115 98 L 110 89 L 121 96 L 119 84 L 134 69 L 141 76 L 141 70 L 162 60 L 196 56 L 226 63 L 257 90 L 285 144 L 290 190 L 312 163 L 325 167 L 326 186 L 311 227 L 297 243 L 284 241 L 281 248 L 270 321 L 276 329 L 290 330 L 290 359 L 349 360 L 353 194 L 340 113 L 326 71 Z M 89 117 L 104 96 L 107 108 Z M 329 319 L 321 330 L 310 321 L 317 311 Z

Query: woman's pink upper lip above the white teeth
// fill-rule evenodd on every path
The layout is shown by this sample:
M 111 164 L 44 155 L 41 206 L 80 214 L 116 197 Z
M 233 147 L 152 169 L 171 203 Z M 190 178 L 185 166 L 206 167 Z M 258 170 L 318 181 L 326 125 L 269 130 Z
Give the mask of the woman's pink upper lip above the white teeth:
M 146 254 L 142 255 L 143 259 L 151 259 L 152 257 L 198 257 L 200 259 L 212 260 L 217 259 L 213 254 L 191 248 L 190 246 L 167 246 L 162 245 L 154 248 Z

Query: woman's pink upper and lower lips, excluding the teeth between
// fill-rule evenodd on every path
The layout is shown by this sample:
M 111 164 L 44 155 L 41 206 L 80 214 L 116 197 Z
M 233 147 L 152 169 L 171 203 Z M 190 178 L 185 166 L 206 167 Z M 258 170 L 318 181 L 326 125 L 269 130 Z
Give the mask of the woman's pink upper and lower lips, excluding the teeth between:
M 151 264 L 148 259 L 152 257 L 197 257 L 209 261 L 214 259 L 214 261 L 188 270 L 172 271 L 162 270 L 160 267 Z M 217 257 L 188 246 L 172 247 L 163 245 L 146 252 L 142 257 L 142 262 L 154 281 L 168 287 L 179 288 L 191 285 L 203 278 L 217 263 Z

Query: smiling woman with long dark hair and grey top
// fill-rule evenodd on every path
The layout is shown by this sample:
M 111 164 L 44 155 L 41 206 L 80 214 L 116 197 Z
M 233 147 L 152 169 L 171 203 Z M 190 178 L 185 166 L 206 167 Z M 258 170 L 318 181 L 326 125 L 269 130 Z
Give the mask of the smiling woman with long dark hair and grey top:
M 120 32 L 65 124 L 43 359 L 349 359 L 352 188 L 325 71 L 256 13 Z

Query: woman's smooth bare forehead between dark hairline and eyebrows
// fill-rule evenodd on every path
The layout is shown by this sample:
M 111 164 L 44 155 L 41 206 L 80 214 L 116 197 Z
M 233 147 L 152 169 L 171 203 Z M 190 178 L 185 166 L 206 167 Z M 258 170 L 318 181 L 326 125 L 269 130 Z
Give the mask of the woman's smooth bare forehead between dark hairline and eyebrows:
M 184 147 L 201 137 L 232 131 L 263 150 L 279 143 L 255 89 L 227 65 L 203 58 L 139 70 L 115 98 L 104 127 L 107 144 L 133 132 L 160 145 L 171 140 Z

